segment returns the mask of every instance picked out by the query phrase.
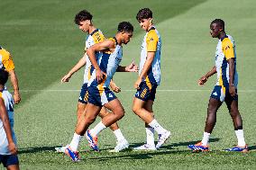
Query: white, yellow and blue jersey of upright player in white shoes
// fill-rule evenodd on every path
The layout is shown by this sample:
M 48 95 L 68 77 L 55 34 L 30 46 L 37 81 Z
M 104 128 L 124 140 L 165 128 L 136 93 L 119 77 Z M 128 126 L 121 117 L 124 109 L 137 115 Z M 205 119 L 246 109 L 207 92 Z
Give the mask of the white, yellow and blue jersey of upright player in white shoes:
M 142 51 L 141 51 L 141 62 L 139 74 L 142 72 L 142 68 L 147 59 L 148 52 L 155 52 L 155 57 L 152 61 L 151 67 L 147 73 L 147 76 L 143 81 L 147 85 L 160 85 L 160 49 L 161 49 L 161 39 L 160 33 L 155 27 L 151 27 L 150 31 L 147 31 L 144 39 L 142 41 Z

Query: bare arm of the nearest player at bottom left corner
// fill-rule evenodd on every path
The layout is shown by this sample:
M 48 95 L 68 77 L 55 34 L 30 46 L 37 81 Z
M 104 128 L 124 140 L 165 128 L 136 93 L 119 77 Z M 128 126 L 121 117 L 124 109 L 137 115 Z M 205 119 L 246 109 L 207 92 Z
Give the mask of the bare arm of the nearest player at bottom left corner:
M 17 154 L 17 148 L 14 144 L 11 125 L 10 125 L 8 114 L 7 114 L 6 108 L 5 108 L 5 102 L 2 98 L 0 98 L 0 119 L 3 122 L 3 126 L 4 126 L 4 129 L 5 129 L 6 138 L 8 140 L 9 151 L 11 152 L 11 154 Z

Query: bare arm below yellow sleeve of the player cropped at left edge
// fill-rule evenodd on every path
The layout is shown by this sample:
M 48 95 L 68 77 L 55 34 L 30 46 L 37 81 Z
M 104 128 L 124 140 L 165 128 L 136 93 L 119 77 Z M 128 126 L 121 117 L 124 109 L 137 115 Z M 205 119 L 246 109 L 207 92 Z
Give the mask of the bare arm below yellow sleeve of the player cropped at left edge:
M 19 83 L 18 83 L 18 78 L 15 74 L 15 71 L 14 69 L 12 70 L 9 70 L 9 75 L 10 75 L 10 78 L 11 78 L 11 82 L 12 82 L 12 85 L 14 87 L 14 103 L 20 103 L 21 102 L 21 95 L 20 95 L 20 92 L 19 92 Z

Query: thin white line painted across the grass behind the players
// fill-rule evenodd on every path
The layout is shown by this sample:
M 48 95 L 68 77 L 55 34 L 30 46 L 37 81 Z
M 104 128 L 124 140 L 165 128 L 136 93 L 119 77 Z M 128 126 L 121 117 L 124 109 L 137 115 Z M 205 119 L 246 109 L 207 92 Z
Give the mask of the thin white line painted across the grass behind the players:
M 157 90 L 158 92 L 210 92 L 211 90 L 189 90 L 189 89 L 159 89 Z M 46 89 L 46 90 L 20 90 L 20 92 L 80 92 L 80 90 L 75 90 L 75 89 L 63 89 L 63 90 L 58 90 L 58 89 Z M 136 92 L 136 90 L 121 90 L 121 92 Z M 256 90 L 238 90 L 238 93 L 255 93 Z

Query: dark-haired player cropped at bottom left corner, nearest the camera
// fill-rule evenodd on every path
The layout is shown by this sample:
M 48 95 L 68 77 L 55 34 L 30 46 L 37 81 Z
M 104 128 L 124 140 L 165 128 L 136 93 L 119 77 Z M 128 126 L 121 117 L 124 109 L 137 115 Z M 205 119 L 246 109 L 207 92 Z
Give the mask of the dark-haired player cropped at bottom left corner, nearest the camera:
M 14 134 L 14 103 L 5 89 L 8 72 L 0 69 L 0 164 L 8 170 L 18 170 L 16 138 Z

